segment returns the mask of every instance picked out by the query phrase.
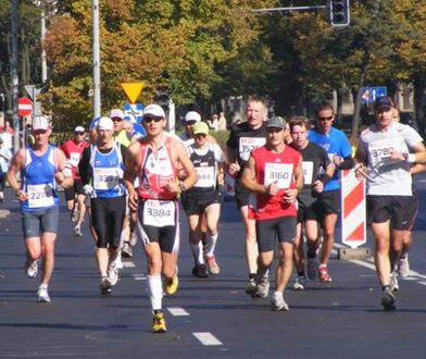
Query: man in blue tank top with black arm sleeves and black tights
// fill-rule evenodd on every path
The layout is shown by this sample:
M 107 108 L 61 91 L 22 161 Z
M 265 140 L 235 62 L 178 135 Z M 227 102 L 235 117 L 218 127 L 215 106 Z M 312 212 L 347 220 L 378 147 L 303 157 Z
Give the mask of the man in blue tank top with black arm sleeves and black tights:
M 97 123 L 96 143 L 86 148 L 78 163 L 78 173 L 90 196 L 91 223 L 96 232 L 96 259 L 100 274 L 100 289 L 110 294 L 118 281 L 115 260 L 120 252 L 120 237 L 126 212 L 123 185 L 126 148 L 114 141 L 113 122 L 101 117 Z

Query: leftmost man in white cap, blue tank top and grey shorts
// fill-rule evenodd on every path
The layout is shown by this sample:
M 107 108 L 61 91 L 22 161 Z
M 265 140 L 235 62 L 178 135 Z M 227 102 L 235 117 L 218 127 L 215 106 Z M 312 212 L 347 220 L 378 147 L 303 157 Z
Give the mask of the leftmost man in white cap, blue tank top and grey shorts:
M 59 148 L 49 145 L 51 128 L 45 116 L 33 121 L 33 148 L 21 148 L 12 159 L 8 182 L 16 193 L 22 213 L 25 238 L 27 276 L 36 277 L 38 260 L 42 259 L 42 273 L 38 301 L 49 302 L 48 286 L 54 267 L 54 243 L 59 226 L 59 197 L 57 185 L 73 185 L 71 166 Z M 17 175 L 21 173 L 21 185 Z

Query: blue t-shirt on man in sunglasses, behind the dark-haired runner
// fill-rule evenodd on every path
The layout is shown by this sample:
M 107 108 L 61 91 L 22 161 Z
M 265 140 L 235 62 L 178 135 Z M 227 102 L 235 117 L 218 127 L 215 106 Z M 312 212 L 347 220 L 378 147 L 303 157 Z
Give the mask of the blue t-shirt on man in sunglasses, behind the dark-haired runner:
M 320 134 L 315 129 L 310 129 L 308 139 L 323 147 L 333 162 L 333 157 L 339 156 L 346 158 L 352 154 L 352 147 L 343 132 L 331 127 L 328 134 Z M 324 190 L 334 190 L 340 188 L 339 170 L 336 169 L 333 178 L 327 182 Z

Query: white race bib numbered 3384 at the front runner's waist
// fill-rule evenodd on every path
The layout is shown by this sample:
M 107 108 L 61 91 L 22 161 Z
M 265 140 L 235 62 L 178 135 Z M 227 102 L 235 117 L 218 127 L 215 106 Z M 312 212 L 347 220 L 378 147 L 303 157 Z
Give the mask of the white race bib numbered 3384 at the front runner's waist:
M 175 225 L 175 202 L 148 199 L 143 203 L 143 224 L 154 227 Z

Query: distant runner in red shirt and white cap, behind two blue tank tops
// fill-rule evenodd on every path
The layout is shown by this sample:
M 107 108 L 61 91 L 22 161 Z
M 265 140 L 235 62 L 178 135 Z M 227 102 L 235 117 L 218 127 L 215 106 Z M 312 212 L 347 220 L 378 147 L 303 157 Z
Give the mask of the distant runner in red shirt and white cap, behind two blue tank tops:
M 75 223 L 74 234 L 82 236 L 82 223 L 85 219 L 85 191 L 83 189 L 82 178 L 77 173 L 77 166 L 83 151 L 89 144 L 86 141 L 86 131 L 83 126 L 74 128 L 74 136 L 72 139 L 66 140 L 61 149 L 65 153 L 66 159 L 70 161 L 74 185 L 65 189 L 66 206 L 71 211 L 71 221 Z

